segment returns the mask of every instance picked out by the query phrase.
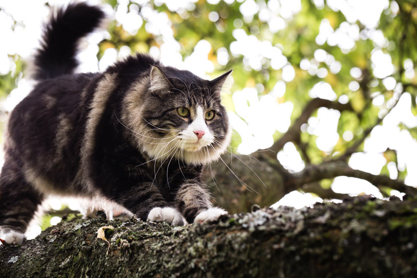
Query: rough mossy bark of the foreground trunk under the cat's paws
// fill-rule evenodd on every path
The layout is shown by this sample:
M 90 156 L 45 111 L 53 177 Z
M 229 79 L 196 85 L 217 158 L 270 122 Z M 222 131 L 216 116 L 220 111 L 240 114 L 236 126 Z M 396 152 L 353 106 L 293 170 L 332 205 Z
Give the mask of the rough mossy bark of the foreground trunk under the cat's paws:
M 0 246 L 0 277 L 416 277 L 416 208 L 360 197 L 186 227 L 74 219 Z

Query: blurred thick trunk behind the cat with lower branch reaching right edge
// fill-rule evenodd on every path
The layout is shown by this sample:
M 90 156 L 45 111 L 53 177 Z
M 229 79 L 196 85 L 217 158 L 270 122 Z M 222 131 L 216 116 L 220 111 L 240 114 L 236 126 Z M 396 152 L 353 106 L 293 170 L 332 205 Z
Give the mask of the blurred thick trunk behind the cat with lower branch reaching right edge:
M 408 196 L 417 196 L 417 188 L 385 175 L 372 175 L 355 170 L 342 160 L 309 164 L 298 173 L 290 173 L 276 159 L 272 151 L 252 155 L 225 154 L 211 164 L 203 174 L 216 205 L 230 213 L 248 212 L 252 204 L 270 206 L 293 190 L 314 193 L 323 199 L 344 199 L 347 194 L 320 186 L 320 180 L 339 176 L 362 178 L 381 190 L 383 195 L 395 189 Z M 386 196 L 386 197 L 389 197 Z

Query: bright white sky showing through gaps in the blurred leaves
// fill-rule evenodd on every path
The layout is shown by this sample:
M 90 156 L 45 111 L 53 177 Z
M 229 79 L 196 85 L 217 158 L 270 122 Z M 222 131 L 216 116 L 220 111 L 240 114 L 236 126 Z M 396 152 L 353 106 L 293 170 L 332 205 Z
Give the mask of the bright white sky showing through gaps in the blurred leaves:
M 176 11 L 180 15 L 185 10 L 192 10 L 195 7 L 196 0 L 155 0 L 156 5 L 165 3 L 171 11 Z M 232 3 L 234 0 L 225 0 Z M 96 3 L 97 1 L 88 1 Z M 199 41 L 194 47 L 194 51 L 188 57 L 183 58 L 180 54 L 181 45 L 174 39 L 172 23 L 164 12 L 157 12 L 146 0 L 133 1 L 143 6 L 141 15 L 136 13 L 135 4 L 130 5 L 128 12 L 129 0 L 119 0 L 119 5 L 114 12 L 109 5 L 104 5 L 105 10 L 110 17 L 123 25 L 130 33 L 135 34 L 141 25 L 145 24 L 145 28 L 149 33 L 156 36 L 160 47 L 152 47 L 150 54 L 158 58 L 165 65 L 175 66 L 179 69 L 187 69 L 194 74 L 209 78 L 209 74 L 214 72 L 214 65 L 209 60 L 208 54 L 211 45 L 206 40 Z M 218 3 L 219 0 L 208 0 L 209 3 Z M 230 45 L 230 52 L 227 49 L 220 49 L 217 53 L 218 63 L 225 65 L 230 59 L 229 55 L 236 57 L 243 56 L 244 68 L 247 70 L 261 70 L 261 60 L 268 59 L 273 69 L 282 69 L 282 79 L 276 83 L 273 91 L 258 97 L 258 93 L 263 91 L 263 86 L 258 84 L 256 87 L 244 88 L 241 91 L 233 92 L 233 101 L 235 104 L 235 112 L 230 112 L 232 126 L 240 134 L 242 143 L 238 147 L 238 152 L 249 154 L 258 149 L 265 149 L 273 144 L 272 135 L 276 130 L 286 132 L 290 126 L 290 115 L 293 110 L 292 102 L 278 103 L 276 99 L 282 97 L 286 93 L 286 83 L 290 82 L 294 76 L 294 65 L 291 65 L 287 57 L 283 55 L 282 46 L 273 46 L 271 42 L 265 40 L 260 41 L 256 36 L 246 33 L 242 28 L 244 22 L 250 22 L 255 14 L 258 13 L 261 21 L 265 22 L 271 32 L 286 28 L 287 23 L 297 15 L 301 10 L 300 0 L 269 0 L 267 4 L 263 1 L 254 0 L 238 0 L 243 2 L 240 6 L 242 20 L 235 20 L 236 29 L 233 31 L 235 41 Z M 324 0 L 313 0 L 317 8 L 323 8 Z M 330 46 L 338 46 L 341 51 L 348 53 L 355 47 L 355 42 L 360 39 L 370 38 L 374 42 L 375 49 L 371 54 L 371 62 L 373 74 L 383 79 L 383 84 L 387 89 L 394 89 L 397 93 L 391 100 L 385 99 L 378 94 L 374 96 L 373 104 L 376 106 L 389 106 L 398 99 L 398 92 L 401 91 L 400 84 L 396 84 L 395 79 L 390 75 L 394 68 L 391 56 L 384 53 L 381 48 L 387 47 L 388 40 L 384 37 L 381 30 L 376 29 L 381 12 L 390 7 L 393 14 L 398 10 L 395 2 L 388 0 L 327 0 L 327 4 L 334 11 L 341 11 L 346 17 L 346 22 L 333 29 L 327 19 L 323 19 L 320 24 L 319 33 L 316 36 L 317 45 L 327 43 Z M 41 23 L 48 17 L 49 9 L 44 5 L 45 0 L 13 0 L 1 1 L 0 7 L 0 33 L 2 34 L 2 42 L 0 44 L 0 74 L 4 75 L 15 70 L 15 61 L 13 55 L 18 54 L 25 59 L 29 59 L 34 49 L 38 46 L 38 40 L 41 37 Z M 68 3 L 67 0 L 52 0 L 49 4 L 62 5 Z M 22 7 L 25 8 L 22 8 Z M 4 12 L 4 11 L 6 12 Z M 13 20 L 18 25 L 12 29 Z M 212 12 L 209 19 L 213 22 L 218 18 L 217 12 Z M 366 26 L 365 31 L 360 32 L 358 23 Z M 219 29 L 219 27 L 217 27 Z M 221 29 L 219 29 L 221 31 Z M 100 61 L 97 59 L 99 48 L 97 44 L 109 36 L 105 30 L 95 32 L 81 43 L 82 50 L 78 54 L 78 58 L 82 62 L 79 72 L 95 72 L 104 71 L 117 59 L 123 58 L 130 54 L 128 47 L 122 47 L 120 51 L 110 48 L 104 52 L 104 56 Z M 327 76 L 326 68 L 321 67 L 320 63 L 325 63 L 330 72 L 339 73 L 342 65 L 335 57 L 322 49 L 314 52 L 312 59 L 303 59 L 300 65 L 295 65 L 307 71 L 312 76 L 323 78 Z M 404 63 L 405 74 L 408 78 L 414 77 L 414 65 L 411 60 Z M 349 89 L 356 91 L 359 89 L 357 80 L 361 78 L 362 72 L 358 68 L 350 69 L 352 82 L 349 83 Z M 7 111 L 21 101 L 32 88 L 32 81 L 25 77 L 20 78 L 18 87 L 14 89 L 8 98 L 0 105 L 3 105 Z M 319 81 L 309 91 L 311 98 L 323 98 L 335 101 L 336 93 L 330 84 Z M 360 169 L 372 174 L 379 174 L 382 167 L 387 163 L 381 154 L 387 148 L 397 151 L 398 168 L 407 168 L 406 184 L 417 186 L 417 142 L 413 139 L 407 130 L 400 130 L 398 124 L 402 123 L 408 127 L 417 126 L 417 117 L 411 113 L 411 95 L 405 93 L 401 96 L 397 106 L 392 109 L 389 115 L 384 119 L 383 124 L 375 128 L 369 138 L 365 140 L 364 152 L 358 152 L 352 155 L 349 165 L 354 169 Z M 347 96 L 339 97 L 339 102 L 346 103 Z M 249 105 L 248 105 L 249 103 Z M 391 104 L 390 104 L 391 103 Z M 381 112 L 381 116 L 382 113 Z M 338 120 L 340 112 L 333 109 L 320 108 L 317 117 L 311 117 L 308 124 L 302 127 L 303 132 L 308 132 L 317 136 L 317 147 L 323 152 L 332 152 L 334 146 L 339 140 L 337 132 Z M 243 120 L 242 120 L 243 119 Z M 271 122 L 269 119 L 280 119 L 280 121 Z M 352 140 L 354 134 L 346 131 L 343 139 Z M 304 169 L 305 164 L 294 144 L 287 143 L 284 149 L 277 154 L 280 162 L 290 171 L 299 172 Z M 2 162 L 2 161 L 1 161 Z M 395 164 L 389 164 L 390 177 L 397 176 Z M 357 180 L 349 177 L 335 178 L 332 189 L 339 193 L 349 193 L 357 195 L 362 192 L 374 194 L 381 198 L 378 190 L 369 182 Z M 316 201 L 311 194 L 303 194 L 293 192 L 283 198 L 279 204 L 294 205 L 301 207 Z M 52 199 L 49 206 L 53 208 L 60 207 L 60 202 Z M 54 218 L 54 223 L 59 219 Z M 31 226 L 28 230 L 28 236 L 33 237 L 40 232 L 40 228 Z

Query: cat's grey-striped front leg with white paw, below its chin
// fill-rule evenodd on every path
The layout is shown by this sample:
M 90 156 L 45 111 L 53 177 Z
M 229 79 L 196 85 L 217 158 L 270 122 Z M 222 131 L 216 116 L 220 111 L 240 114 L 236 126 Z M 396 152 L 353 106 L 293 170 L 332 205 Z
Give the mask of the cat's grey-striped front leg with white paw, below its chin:
M 176 202 L 188 223 L 207 223 L 217 220 L 227 211 L 213 207 L 209 192 L 199 183 L 185 183 L 177 192 Z

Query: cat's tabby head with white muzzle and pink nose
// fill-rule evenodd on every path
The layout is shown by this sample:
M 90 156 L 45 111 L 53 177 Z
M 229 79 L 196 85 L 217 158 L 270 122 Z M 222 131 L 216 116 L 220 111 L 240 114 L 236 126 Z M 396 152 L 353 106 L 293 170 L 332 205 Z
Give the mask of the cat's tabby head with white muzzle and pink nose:
M 198 165 L 217 160 L 232 133 L 220 103 L 230 72 L 204 80 L 188 71 L 153 67 L 136 85 L 142 90 L 140 97 L 127 98 L 129 126 L 141 151 L 158 161 L 179 159 Z

